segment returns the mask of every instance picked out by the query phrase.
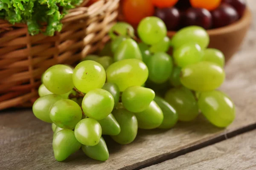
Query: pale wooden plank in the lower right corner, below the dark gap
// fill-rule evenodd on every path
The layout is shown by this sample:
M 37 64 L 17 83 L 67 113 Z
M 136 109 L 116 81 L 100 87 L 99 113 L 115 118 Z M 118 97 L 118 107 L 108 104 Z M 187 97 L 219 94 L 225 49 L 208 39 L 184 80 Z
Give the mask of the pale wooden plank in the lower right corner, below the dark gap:
M 255 170 L 256 130 L 143 170 Z

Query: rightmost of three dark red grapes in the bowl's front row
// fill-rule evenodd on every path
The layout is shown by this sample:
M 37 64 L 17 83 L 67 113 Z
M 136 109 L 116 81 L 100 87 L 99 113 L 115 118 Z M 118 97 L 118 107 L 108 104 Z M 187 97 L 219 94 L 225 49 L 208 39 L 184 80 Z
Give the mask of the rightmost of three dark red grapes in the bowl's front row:
M 222 3 L 218 8 L 211 11 L 211 13 L 214 28 L 227 26 L 239 19 L 235 8 L 226 3 Z

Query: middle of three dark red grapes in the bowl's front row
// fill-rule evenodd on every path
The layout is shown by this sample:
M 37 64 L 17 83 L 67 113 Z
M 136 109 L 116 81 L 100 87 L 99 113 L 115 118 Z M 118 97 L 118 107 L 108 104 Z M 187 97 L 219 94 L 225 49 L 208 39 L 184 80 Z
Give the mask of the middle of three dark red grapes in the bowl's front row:
M 212 27 L 212 14 L 205 8 L 189 8 L 182 18 L 183 26 Z

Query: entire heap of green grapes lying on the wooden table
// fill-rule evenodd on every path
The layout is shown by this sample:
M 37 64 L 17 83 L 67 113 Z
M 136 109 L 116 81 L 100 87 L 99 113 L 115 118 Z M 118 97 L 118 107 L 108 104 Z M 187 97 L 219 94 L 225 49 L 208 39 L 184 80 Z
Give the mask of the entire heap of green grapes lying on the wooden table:
M 131 25 L 116 23 L 103 57 L 90 55 L 74 69 L 55 65 L 43 74 L 33 113 L 52 123 L 57 161 L 80 147 L 105 161 L 109 153 L 102 135 L 129 144 L 138 128 L 169 129 L 178 120 L 196 119 L 199 110 L 217 127 L 233 122 L 233 102 L 215 90 L 224 82 L 224 56 L 207 48 L 204 28 L 183 28 L 169 40 L 163 21 L 147 17 L 137 32 L 139 44 Z M 173 57 L 166 53 L 170 46 Z

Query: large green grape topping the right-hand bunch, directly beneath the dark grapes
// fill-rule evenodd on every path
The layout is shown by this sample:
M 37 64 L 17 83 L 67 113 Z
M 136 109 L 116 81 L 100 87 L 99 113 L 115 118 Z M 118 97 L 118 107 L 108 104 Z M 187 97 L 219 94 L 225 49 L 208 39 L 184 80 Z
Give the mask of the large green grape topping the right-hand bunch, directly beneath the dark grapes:
M 209 35 L 204 28 L 188 26 L 177 31 L 172 37 L 172 46 L 175 49 L 190 42 L 197 43 L 201 48 L 205 49 L 209 45 Z

